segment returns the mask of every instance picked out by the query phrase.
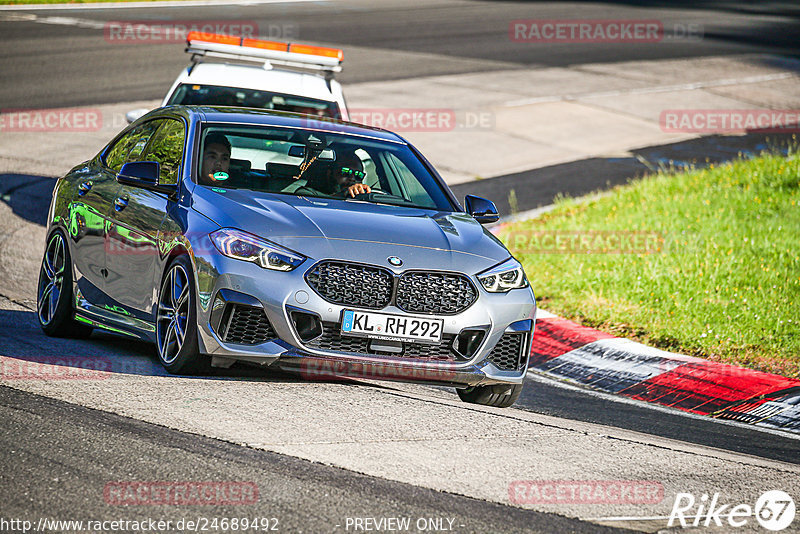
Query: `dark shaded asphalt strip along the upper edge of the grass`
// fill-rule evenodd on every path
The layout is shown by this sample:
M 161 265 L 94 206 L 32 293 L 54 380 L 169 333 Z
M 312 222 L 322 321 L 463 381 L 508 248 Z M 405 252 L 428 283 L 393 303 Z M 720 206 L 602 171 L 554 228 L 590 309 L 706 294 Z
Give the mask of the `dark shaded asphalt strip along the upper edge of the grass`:
M 490 199 L 505 217 L 548 206 L 558 196 L 579 197 L 600 192 L 659 170 L 705 167 L 752 157 L 765 150 L 785 154 L 789 147 L 797 146 L 796 136 L 793 133 L 711 135 L 632 150 L 628 157 L 588 158 L 458 184 L 451 189 L 460 199 L 468 194 Z M 509 202 L 512 196 L 516 197 L 516 210 Z

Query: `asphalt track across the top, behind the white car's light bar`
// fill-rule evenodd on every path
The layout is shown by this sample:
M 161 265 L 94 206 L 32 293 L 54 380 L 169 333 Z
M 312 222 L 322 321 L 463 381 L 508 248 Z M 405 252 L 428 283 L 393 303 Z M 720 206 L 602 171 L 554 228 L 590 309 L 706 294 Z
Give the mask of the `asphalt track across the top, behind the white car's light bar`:
M 110 21 L 255 22 L 266 36 L 339 46 L 343 84 L 509 68 L 574 66 L 742 53 L 798 55 L 793 2 L 495 2 L 344 0 L 205 8 L 36 12 L 40 22 L 0 11 L 0 107 L 51 108 L 162 98 L 186 66 L 183 47 L 106 40 Z M 14 17 L 9 20 L 9 17 Z M 51 17 L 47 19 L 47 17 Z M 99 24 L 70 25 L 69 17 Z M 657 20 L 656 43 L 519 43 L 518 19 Z M 47 19 L 48 22 L 42 22 Z M 675 32 L 702 28 L 702 40 Z M 84 25 L 85 26 L 85 25 Z

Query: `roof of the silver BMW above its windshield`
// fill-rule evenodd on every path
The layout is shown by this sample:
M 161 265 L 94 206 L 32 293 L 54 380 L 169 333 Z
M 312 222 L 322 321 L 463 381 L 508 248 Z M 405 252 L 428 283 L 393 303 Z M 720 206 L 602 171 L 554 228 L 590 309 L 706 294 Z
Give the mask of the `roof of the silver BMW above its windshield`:
M 372 137 L 393 143 L 407 144 L 405 139 L 388 130 L 364 126 L 354 122 L 329 119 L 327 117 L 312 117 L 302 113 L 288 113 L 267 109 L 248 109 L 235 107 L 211 106 L 167 106 L 161 110 L 174 110 L 196 115 L 202 122 L 257 124 L 263 126 L 282 126 L 284 128 L 300 128 L 320 130 L 325 132 L 346 135 L 359 135 Z

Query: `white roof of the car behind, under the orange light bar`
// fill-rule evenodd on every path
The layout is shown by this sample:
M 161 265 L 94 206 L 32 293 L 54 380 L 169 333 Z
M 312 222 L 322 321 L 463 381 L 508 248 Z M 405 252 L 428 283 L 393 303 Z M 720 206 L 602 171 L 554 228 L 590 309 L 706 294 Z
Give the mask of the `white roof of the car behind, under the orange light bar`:
M 198 63 L 193 69 L 185 69 L 177 81 L 273 91 L 329 102 L 336 100 L 322 76 L 276 68 L 265 69 L 263 66 L 255 65 Z

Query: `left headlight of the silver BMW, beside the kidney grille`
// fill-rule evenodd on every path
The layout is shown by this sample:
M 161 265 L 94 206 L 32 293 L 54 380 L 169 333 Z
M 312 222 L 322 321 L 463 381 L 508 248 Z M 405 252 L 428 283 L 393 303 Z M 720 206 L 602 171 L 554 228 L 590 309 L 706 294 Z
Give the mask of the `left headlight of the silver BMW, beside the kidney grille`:
M 208 234 L 208 237 L 225 256 L 250 261 L 264 269 L 291 271 L 305 260 L 305 257 L 296 252 L 241 230 L 221 228 Z

